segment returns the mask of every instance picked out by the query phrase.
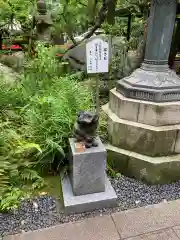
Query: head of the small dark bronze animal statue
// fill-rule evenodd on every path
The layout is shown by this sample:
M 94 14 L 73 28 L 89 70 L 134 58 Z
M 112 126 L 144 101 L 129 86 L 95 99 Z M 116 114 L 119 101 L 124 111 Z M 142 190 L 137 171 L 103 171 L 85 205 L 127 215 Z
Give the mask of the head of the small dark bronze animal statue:
M 97 125 L 99 116 L 89 111 L 81 111 L 78 113 L 77 122 L 80 125 Z

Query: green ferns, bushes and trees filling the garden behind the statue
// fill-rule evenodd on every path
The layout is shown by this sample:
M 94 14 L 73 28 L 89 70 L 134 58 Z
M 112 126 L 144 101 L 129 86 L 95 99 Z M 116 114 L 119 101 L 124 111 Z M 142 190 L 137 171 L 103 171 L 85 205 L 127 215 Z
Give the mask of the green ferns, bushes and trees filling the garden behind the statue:
M 48 9 L 54 34 L 67 35 L 73 47 L 79 44 L 74 38 L 89 29 L 91 35 L 102 28 L 112 37 L 125 37 L 123 44 L 114 47 L 116 55 L 107 78 L 117 79 L 132 70 L 127 50 L 136 50 L 143 36 L 148 4 L 146 0 L 61 0 L 48 4 Z M 128 9 L 132 14 L 130 41 L 126 40 L 127 17 L 115 16 L 115 8 Z M 95 88 L 87 84 L 94 80 L 57 59 L 55 53 L 59 50 L 55 47 L 30 41 L 35 13 L 35 0 L 0 0 L 0 37 L 11 41 L 19 35 L 28 36 L 25 49 L 33 46 L 36 50 L 33 56 L 25 52 L 24 65 L 15 81 L 7 83 L 0 76 L 0 211 L 17 208 L 22 199 L 45 185 L 44 176 L 57 174 L 66 166 L 68 138 L 77 112 L 94 111 Z M 137 14 L 141 16 L 137 18 Z M 20 31 L 11 31 L 9 26 L 17 23 Z M 99 77 L 102 83 L 104 76 Z M 105 103 L 108 96 L 101 100 Z M 102 113 L 99 134 L 107 140 L 106 117 Z M 111 163 L 108 173 L 119 176 Z

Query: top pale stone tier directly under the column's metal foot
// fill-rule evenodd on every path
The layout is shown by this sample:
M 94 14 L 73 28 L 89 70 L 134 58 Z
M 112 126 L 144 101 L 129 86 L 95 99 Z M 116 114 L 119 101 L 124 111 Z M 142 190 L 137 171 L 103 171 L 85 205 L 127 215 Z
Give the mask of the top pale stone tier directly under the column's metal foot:
M 126 98 L 112 89 L 109 107 L 119 118 L 148 124 L 165 126 L 180 124 L 180 102 L 155 103 Z

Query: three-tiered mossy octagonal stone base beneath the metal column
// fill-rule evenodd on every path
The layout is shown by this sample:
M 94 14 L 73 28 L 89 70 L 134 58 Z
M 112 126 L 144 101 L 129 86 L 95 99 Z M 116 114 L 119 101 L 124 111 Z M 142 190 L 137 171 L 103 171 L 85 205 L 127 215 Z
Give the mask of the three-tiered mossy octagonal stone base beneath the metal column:
M 127 176 L 150 184 L 180 179 L 180 102 L 155 103 L 110 91 L 108 158 Z

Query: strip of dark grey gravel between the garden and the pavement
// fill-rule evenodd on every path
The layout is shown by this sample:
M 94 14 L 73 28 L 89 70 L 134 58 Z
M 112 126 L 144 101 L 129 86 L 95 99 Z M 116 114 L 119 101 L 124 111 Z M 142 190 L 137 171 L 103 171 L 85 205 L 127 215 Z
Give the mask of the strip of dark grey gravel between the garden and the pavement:
M 63 212 L 58 210 L 59 204 L 57 204 L 56 199 L 41 196 L 22 202 L 20 209 L 15 213 L 0 213 L 0 236 L 37 230 L 59 223 L 101 216 L 115 211 L 123 211 L 180 198 L 180 181 L 156 186 L 148 186 L 124 176 L 111 181 L 118 195 L 118 207 L 114 209 L 101 209 L 91 213 L 65 216 Z

